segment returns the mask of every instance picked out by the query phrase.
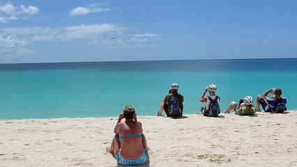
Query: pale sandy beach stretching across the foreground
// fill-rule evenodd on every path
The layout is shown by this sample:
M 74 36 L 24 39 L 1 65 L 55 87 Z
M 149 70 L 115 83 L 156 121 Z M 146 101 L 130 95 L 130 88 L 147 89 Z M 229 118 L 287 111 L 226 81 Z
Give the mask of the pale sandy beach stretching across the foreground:
M 150 166 L 297 166 L 297 112 L 139 116 Z M 116 166 L 116 118 L 0 120 L 1 166 Z

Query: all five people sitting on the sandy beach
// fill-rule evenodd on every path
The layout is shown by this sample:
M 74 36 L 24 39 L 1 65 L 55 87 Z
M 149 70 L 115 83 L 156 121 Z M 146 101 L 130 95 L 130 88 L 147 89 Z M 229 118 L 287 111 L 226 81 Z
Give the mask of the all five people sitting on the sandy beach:
M 168 117 L 183 116 L 183 95 L 178 93 L 178 84 L 171 85 L 169 94 L 163 100 L 157 116 L 162 116 L 162 111 L 165 111 Z M 205 103 L 201 107 L 203 116 L 218 116 L 220 114 L 220 97 L 215 95 L 217 87 L 213 84 L 205 88 L 201 95 L 200 102 Z M 205 97 L 206 93 L 209 96 Z M 268 97 L 272 93 L 273 97 Z M 234 112 L 241 116 L 253 115 L 256 111 L 260 111 L 260 105 L 265 112 L 283 113 L 287 111 L 287 100 L 281 97 L 282 90 L 280 88 L 271 88 L 267 90 L 263 97 L 257 96 L 257 107 L 252 104 L 251 96 L 244 97 L 238 103 L 231 102 L 224 113 Z M 121 121 L 125 118 L 125 121 Z M 135 108 L 131 105 L 126 105 L 123 108 L 123 113 L 119 115 L 119 119 L 114 127 L 114 138 L 110 147 L 106 149 L 116 159 L 118 164 L 124 166 L 136 166 L 149 164 L 148 146 L 146 137 L 143 134 L 142 123 L 137 121 Z

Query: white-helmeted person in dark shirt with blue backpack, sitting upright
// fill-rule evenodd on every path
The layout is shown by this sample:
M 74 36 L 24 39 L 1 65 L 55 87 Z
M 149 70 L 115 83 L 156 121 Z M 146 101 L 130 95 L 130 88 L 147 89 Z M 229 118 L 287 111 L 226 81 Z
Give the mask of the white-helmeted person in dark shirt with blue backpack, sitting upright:
M 165 111 L 167 117 L 183 116 L 183 95 L 178 93 L 178 88 L 176 83 L 171 85 L 169 94 L 165 96 L 157 116 L 162 116 L 162 111 Z

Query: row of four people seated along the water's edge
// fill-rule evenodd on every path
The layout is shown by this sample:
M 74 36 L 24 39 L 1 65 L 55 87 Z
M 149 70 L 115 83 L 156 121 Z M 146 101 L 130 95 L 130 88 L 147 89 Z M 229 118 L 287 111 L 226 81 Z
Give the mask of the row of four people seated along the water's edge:
M 178 84 L 173 83 L 169 90 L 169 94 L 165 96 L 160 109 L 157 111 L 157 116 L 162 116 L 162 112 L 165 111 L 167 117 L 181 117 L 183 116 L 183 95 L 178 93 Z M 201 95 L 199 102 L 205 105 L 201 107 L 201 113 L 203 116 L 216 117 L 220 114 L 220 96 L 215 95 L 217 86 L 214 84 L 208 85 L 204 89 L 204 93 Z M 206 93 L 208 96 L 205 96 Z M 268 94 L 273 94 L 273 97 L 268 97 Z M 251 116 L 260 111 L 260 105 L 265 112 L 271 113 L 284 113 L 287 111 L 287 99 L 282 97 L 282 90 L 280 88 L 271 88 L 267 90 L 263 96 L 257 96 L 257 107 L 253 104 L 251 96 L 246 96 L 239 100 L 238 103 L 231 102 L 224 113 L 230 113 L 233 109 L 234 113 L 240 116 Z

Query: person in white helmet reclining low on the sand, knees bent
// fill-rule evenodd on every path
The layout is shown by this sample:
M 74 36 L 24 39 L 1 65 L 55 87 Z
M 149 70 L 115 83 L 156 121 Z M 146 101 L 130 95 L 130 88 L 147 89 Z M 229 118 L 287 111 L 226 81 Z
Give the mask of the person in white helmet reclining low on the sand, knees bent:
M 234 112 L 239 116 L 252 116 L 256 112 L 252 102 L 253 100 L 251 96 L 247 96 L 239 100 L 238 104 L 236 104 L 236 102 L 231 102 L 228 109 L 224 111 L 224 113 L 230 113 L 230 111 L 234 109 Z

